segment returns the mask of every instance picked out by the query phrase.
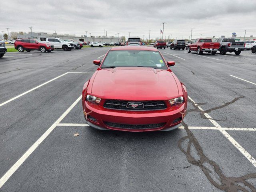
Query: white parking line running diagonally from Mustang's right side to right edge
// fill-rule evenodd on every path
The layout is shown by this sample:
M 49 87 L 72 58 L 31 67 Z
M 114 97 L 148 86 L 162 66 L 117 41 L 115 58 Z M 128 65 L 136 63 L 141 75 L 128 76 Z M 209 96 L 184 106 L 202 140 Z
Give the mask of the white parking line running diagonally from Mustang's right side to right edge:
M 188 98 L 195 104 L 195 106 L 198 107 L 201 111 L 204 111 L 190 96 Z M 234 138 L 226 132 L 226 130 L 223 130 L 222 127 L 212 119 L 212 117 L 208 113 L 204 113 L 204 116 L 208 118 L 208 120 L 216 127 L 218 130 L 252 163 L 254 167 L 256 167 L 256 160 L 238 143 Z

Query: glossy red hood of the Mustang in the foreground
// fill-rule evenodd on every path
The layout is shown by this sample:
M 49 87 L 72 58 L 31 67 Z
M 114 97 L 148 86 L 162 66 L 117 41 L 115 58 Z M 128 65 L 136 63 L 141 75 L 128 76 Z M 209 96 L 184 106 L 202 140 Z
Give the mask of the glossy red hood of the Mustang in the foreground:
M 168 100 L 179 96 L 172 72 L 145 67 L 100 69 L 92 94 L 102 99 Z

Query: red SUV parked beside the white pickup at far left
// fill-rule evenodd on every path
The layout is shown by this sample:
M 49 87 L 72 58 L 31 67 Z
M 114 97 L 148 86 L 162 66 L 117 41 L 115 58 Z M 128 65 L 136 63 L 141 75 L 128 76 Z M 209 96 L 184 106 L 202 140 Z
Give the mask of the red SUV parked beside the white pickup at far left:
M 41 52 L 51 52 L 54 46 L 37 39 L 17 39 L 14 42 L 14 48 L 19 52 L 30 52 L 32 50 L 39 50 Z

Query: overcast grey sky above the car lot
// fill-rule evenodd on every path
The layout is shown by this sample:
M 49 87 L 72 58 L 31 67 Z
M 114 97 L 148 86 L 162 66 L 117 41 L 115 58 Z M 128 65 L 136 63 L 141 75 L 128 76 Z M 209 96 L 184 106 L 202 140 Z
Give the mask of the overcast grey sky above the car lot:
M 256 36 L 256 0 L 1 0 L 0 31 L 81 36 Z M 2 34 L 2 32 L 1 32 Z M 89 34 L 88 34 L 89 36 Z

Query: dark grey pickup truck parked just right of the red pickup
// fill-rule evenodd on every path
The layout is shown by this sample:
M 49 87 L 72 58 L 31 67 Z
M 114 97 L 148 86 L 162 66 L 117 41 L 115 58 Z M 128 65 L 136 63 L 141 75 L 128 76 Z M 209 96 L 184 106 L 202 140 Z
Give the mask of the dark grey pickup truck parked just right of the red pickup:
M 220 54 L 225 55 L 226 52 L 234 52 L 239 55 L 244 50 L 244 42 L 236 42 L 234 38 L 218 38 L 214 42 L 220 43 Z

